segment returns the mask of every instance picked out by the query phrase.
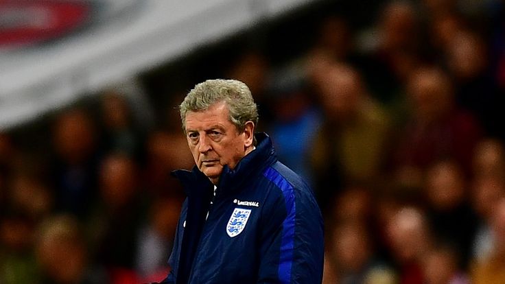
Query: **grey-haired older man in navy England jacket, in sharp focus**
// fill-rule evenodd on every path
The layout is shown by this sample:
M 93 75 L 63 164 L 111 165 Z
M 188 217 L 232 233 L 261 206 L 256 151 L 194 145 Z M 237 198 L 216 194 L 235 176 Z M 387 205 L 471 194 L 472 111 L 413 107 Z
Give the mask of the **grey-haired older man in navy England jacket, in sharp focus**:
M 246 84 L 207 80 L 180 104 L 196 166 L 162 283 L 321 283 L 323 225 L 312 190 L 255 134 Z

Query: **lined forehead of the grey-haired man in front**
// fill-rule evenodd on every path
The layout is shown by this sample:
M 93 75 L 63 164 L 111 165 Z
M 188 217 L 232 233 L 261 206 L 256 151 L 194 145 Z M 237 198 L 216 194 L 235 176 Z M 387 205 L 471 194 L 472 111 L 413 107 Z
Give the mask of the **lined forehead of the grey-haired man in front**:
M 224 102 L 213 104 L 207 110 L 189 111 L 185 118 L 186 130 L 233 126 L 228 114 L 228 108 Z

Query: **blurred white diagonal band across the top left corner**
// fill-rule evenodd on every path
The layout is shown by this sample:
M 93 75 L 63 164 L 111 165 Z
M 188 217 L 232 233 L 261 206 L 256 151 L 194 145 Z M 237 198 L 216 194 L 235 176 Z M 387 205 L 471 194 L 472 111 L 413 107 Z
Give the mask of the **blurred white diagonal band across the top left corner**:
M 314 1 L 67 0 L 93 8 L 85 27 L 42 45 L 0 45 L 0 130 Z M 0 38 L 9 16 L 0 5 Z

